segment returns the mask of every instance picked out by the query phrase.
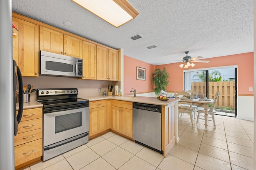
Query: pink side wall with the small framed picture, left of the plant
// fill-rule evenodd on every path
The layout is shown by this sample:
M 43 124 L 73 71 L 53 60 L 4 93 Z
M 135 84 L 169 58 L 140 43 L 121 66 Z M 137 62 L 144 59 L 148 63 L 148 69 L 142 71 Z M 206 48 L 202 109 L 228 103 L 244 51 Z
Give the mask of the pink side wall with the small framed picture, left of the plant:
M 137 66 L 146 68 L 146 80 L 137 80 Z M 136 89 L 137 93 L 153 92 L 152 74 L 155 66 L 124 55 L 124 94 L 132 94 L 130 90 Z

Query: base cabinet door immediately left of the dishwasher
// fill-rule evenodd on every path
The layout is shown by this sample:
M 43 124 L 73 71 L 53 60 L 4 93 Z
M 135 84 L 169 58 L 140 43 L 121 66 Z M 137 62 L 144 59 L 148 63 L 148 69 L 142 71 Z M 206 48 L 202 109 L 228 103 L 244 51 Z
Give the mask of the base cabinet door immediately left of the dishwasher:
M 132 138 L 132 110 L 122 108 L 121 133 Z

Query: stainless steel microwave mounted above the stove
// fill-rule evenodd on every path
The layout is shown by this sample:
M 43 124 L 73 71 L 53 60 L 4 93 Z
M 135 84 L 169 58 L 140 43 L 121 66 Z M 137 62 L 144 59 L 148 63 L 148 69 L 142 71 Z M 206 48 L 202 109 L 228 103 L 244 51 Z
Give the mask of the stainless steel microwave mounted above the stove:
M 40 51 L 40 75 L 82 77 L 83 59 Z

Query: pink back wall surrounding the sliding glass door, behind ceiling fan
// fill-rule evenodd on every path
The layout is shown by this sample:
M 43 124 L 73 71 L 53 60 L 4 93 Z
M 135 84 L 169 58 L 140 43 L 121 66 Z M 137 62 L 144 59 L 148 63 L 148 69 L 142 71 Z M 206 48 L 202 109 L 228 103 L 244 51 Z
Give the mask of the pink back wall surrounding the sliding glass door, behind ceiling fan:
M 192 69 L 237 65 L 238 95 L 253 95 L 253 91 L 249 91 L 249 87 L 253 87 L 253 52 L 214 57 L 205 60 L 209 60 L 210 62 L 195 63 L 196 66 Z M 167 86 L 168 92 L 183 90 L 183 70 L 186 69 L 180 68 L 179 64 L 180 63 L 172 63 L 156 66 L 156 68 L 165 67 L 170 74 L 170 80 Z

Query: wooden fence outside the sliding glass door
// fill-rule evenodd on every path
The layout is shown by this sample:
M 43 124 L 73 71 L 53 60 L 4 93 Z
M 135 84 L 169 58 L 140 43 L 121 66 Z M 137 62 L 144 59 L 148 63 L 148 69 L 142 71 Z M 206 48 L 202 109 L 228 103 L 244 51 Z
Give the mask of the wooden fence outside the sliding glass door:
M 191 89 L 198 94 L 206 95 L 206 82 L 192 82 Z M 216 106 L 235 107 L 235 82 L 209 82 L 209 98 L 214 99 L 215 93 L 220 92 Z

